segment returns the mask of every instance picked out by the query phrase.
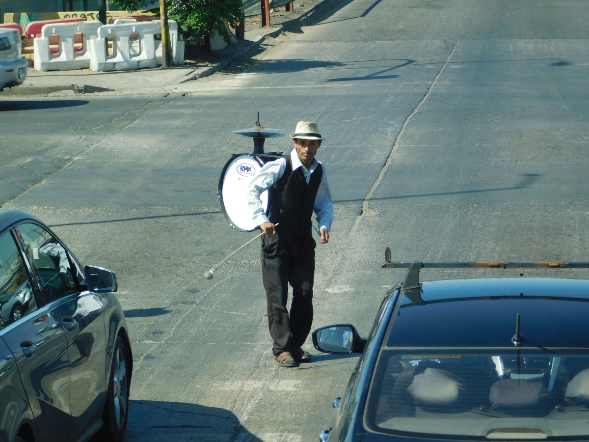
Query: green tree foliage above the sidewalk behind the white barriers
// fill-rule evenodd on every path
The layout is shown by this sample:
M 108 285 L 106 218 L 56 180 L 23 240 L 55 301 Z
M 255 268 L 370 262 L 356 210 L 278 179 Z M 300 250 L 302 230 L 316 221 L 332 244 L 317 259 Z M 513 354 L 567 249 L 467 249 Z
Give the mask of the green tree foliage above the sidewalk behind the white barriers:
M 110 0 L 110 3 L 132 13 L 143 6 L 138 0 Z M 168 19 L 175 20 L 184 38 L 194 41 L 210 37 L 216 31 L 227 43 L 231 43 L 225 22 L 235 28 L 241 19 L 241 0 L 166 0 Z M 160 8 L 150 9 L 160 15 Z

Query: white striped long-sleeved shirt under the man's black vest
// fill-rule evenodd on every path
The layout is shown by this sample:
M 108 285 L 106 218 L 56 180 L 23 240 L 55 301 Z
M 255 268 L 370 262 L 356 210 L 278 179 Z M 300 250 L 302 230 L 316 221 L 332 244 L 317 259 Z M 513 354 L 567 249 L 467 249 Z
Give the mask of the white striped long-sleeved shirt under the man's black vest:
M 317 215 L 316 220 L 319 229 L 325 229 L 329 232 L 333 222 L 333 201 L 331 191 L 329 190 L 329 183 L 327 183 L 327 170 L 325 169 L 325 164 L 313 158 L 311 166 L 307 169 L 303 166 L 303 163 L 300 162 L 296 149 L 293 149 L 292 152 L 290 152 L 290 162 L 292 163 L 293 171 L 299 167 L 303 168 L 303 175 L 305 175 L 307 184 L 309 184 L 311 174 L 317 169 L 317 166 L 321 164 L 323 173 L 321 175 L 319 189 L 317 189 L 317 196 L 315 197 L 313 210 L 315 211 L 315 215 Z M 257 174 L 250 183 L 247 205 L 252 214 L 252 219 L 257 226 L 269 221 L 266 213 L 264 213 L 260 195 L 264 190 L 268 190 L 270 187 L 276 187 L 276 184 L 284 174 L 284 170 L 286 170 L 286 160 L 284 158 L 270 161 L 269 163 L 264 164 L 260 173 Z

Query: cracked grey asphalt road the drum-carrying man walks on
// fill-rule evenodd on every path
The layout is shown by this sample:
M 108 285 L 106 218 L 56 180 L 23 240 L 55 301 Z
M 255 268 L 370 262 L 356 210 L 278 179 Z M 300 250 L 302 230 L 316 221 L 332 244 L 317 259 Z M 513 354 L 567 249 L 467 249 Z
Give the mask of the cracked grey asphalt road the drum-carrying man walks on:
M 358 360 L 309 341 L 312 363 L 276 367 L 256 246 L 202 277 L 253 236 L 216 192 L 230 155 L 252 151 L 231 131 L 256 111 L 327 138 L 336 221 L 317 245 L 314 326 L 368 333 L 403 278 L 380 269 L 386 246 L 395 260 L 588 261 L 588 18 L 584 0 L 325 0 L 184 96 L 0 97 L 0 202 L 117 273 L 127 440 L 314 441 Z

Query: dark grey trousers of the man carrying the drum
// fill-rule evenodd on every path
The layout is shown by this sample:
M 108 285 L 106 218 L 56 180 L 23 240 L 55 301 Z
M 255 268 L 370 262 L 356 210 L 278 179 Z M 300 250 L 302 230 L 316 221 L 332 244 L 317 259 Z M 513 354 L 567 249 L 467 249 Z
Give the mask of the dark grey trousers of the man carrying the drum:
M 300 347 L 311 331 L 315 245 L 313 239 L 284 241 L 262 235 L 262 276 L 274 355 Z M 293 288 L 290 315 L 286 308 L 289 284 Z

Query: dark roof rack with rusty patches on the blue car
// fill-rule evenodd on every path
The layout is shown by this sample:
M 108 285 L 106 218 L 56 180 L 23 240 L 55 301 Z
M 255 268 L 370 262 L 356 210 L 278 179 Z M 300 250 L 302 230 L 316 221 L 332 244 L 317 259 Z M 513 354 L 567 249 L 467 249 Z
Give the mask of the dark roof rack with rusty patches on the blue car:
M 401 262 L 391 261 L 391 248 L 385 250 L 385 262 L 383 269 L 409 269 L 405 281 L 401 286 L 401 292 L 407 296 L 409 301 L 415 305 L 425 305 L 421 298 L 421 282 L 419 282 L 420 269 L 517 269 L 519 276 L 524 276 L 525 268 L 536 269 L 589 269 L 589 262 L 560 262 L 560 261 L 538 261 L 538 262 L 503 262 L 503 261 L 481 261 L 481 262 Z

